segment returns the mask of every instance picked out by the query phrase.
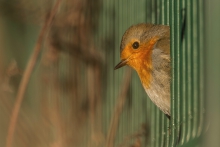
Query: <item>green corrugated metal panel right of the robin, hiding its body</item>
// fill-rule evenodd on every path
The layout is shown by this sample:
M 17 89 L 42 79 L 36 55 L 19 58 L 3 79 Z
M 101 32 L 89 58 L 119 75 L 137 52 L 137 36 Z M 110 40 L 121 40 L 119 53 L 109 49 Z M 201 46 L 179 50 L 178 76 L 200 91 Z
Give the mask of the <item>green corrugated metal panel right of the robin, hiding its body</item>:
M 171 1 L 172 135 L 185 144 L 201 135 L 203 122 L 203 3 Z M 200 129 L 200 130 L 199 130 Z

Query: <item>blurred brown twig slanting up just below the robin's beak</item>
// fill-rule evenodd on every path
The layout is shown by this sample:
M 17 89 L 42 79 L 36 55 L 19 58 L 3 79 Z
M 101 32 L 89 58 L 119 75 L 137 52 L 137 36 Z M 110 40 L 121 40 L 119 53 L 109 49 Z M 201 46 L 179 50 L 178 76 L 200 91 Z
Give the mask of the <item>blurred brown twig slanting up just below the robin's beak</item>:
M 131 81 L 131 69 L 128 68 L 125 72 L 124 79 L 121 84 L 121 88 L 120 88 L 121 91 L 118 97 L 118 103 L 115 107 L 115 111 L 114 111 L 114 114 L 112 116 L 111 123 L 109 126 L 108 136 L 106 139 L 106 147 L 113 147 L 113 144 L 115 142 L 115 135 L 116 135 L 118 124 L 119 124 L 119 118 L 124 107 L 130 81 Z

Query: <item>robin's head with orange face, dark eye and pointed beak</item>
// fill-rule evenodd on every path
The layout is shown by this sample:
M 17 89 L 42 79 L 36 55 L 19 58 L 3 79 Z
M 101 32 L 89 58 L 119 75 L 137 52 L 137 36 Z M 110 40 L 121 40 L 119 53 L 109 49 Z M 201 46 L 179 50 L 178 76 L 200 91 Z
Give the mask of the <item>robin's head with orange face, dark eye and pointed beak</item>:
M 137 72 L 143 66 L 152 68 L 152 50 L 168 33 L 169 27 L 164 25 L 137 24 L 128 28 L 121 40 L 121 62 L 115 69 L 125 65 L 131 66 Z

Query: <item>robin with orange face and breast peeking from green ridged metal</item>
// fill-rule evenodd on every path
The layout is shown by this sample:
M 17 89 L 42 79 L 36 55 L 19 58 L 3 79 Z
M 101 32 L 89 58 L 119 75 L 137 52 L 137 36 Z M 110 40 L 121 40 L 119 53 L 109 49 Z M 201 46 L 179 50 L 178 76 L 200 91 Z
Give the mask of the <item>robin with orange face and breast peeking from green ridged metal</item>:
M 152 23 L 132 25 L 122 36 L 120 58 L 114 69 L 132 67 L 148 97 L 170 118 L 170 27 Z

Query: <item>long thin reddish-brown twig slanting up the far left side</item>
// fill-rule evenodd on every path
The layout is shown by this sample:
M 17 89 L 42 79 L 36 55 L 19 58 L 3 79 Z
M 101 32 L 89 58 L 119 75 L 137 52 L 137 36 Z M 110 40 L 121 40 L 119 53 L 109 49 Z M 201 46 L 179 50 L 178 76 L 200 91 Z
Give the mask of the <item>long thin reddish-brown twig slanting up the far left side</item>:
M 41 29 L 41 32 L 39 34 L 38 40 L 36 42 L 36 45 L 34 47 L 33 53 L 29 59 L 29 62 L 27 64 L 27 67 L 24 71 L 24 75 L 21 79 L 21 83 L 19 85 L 18 88 L 18 93 L 17 93 L 17 97 L 16 97 L 16 102 L 15 102 L 15 106 L 14 109 L 12 111 L 12 115 L 11 115 L 11 120 L 10 120 L 10 124 L 9 124 L 9 129 L 8 129 L 8 135 L 6 138 L 6 147 L 11 147 L 12 145 L 12 141 L 13 141 L 13 136 L 14 136 L 14 131 L 15 131 L 15 126 L 16 126 L 16 122 L 17 122 L 17 118 L 18 118 L 18 114 L 19 114 L 19 110 L 21 107 L 21 102 L 23 100 L 26 88 L 27 88 L 27 84 L 29 82 L 30 76 L 33 72 L 33 69 L 36 65 L 36 61 L 39 57 L 39 53 L 41 51 L 41 46 L 43 44 L 43 39 L 45 37 L 45 34 L 48 32 L 49 27 L 53 21 L 53 18 L 59 8 L 59 5 L 61 3 L 62 0 L 57 0 L 56 4 L 54 5 L 53 9 L 50 11 L 49 13 L 49 17 L 46 19 L 44 26 Z

